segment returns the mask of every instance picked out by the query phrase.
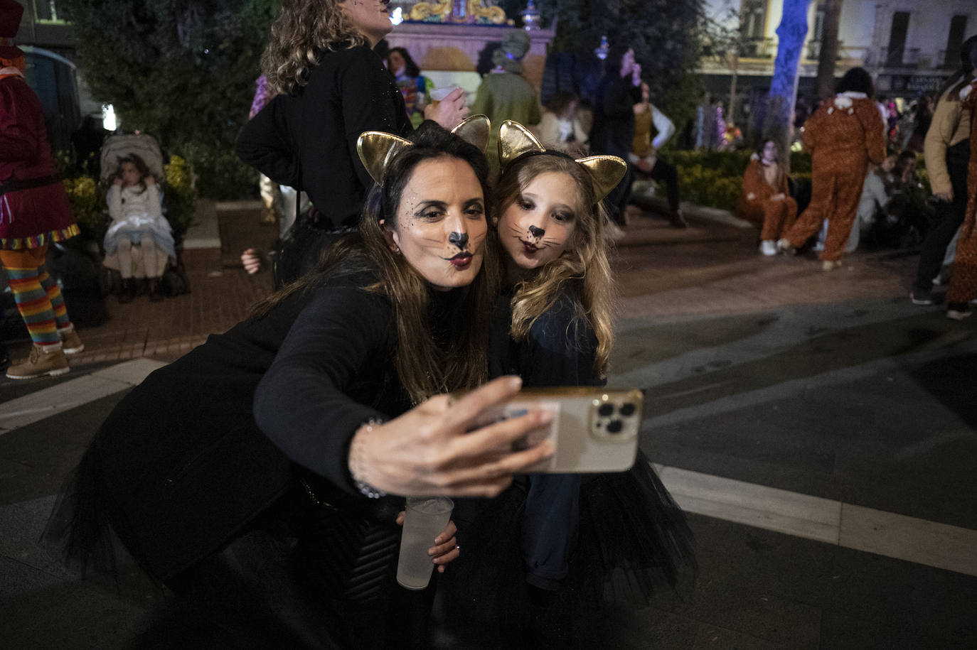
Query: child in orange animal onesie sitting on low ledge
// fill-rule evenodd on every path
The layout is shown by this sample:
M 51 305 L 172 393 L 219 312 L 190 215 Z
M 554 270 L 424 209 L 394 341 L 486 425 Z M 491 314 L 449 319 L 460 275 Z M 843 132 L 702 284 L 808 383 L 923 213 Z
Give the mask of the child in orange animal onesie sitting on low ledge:
M 797 218 L 797 202 L 787 190 L 787 175 L 777 162 L 777 142 L 764 141 L 743 174 L 737 216 L 760 225 L 760 253 L 777 255 L 777 240 Z

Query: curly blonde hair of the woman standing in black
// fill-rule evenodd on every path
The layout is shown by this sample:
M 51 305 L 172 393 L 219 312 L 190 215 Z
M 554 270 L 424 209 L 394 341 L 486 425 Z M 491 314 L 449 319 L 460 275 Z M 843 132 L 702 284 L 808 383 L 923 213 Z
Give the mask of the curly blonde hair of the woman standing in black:
M 277 94 L 309 83 L 323 51 L 365 45 L 340 0 L 284 0 L 272 23 L 272 37 L 261 56 L 261 69 Z

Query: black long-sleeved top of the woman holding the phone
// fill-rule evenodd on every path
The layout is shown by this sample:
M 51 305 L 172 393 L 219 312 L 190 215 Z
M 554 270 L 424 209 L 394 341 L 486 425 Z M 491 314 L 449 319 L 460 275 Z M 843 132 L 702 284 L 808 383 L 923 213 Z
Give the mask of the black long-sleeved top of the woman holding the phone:
M 109 414 L 79 488 L 153 576 L 167 580 L 233 539 L 294 486 L 293 462 L 367 506 L 346 467 L 349 441 L 370 418 L 409 407 L 393 366 L 393 307 L 361 289 L 373 281 L 333 276 L 211 336 Z

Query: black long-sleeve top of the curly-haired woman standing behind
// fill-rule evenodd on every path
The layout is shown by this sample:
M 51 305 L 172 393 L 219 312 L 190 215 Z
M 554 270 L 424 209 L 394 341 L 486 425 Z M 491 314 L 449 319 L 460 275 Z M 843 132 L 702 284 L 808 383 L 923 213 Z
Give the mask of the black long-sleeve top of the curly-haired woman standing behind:
M 309 83 L 279 95 L 237 139 L 237 155 L 276 183 L 309 194 L 330 229 L 355 226 L 373 181 L 357 154 L 363 131 L 413 127 L 397 81 L 370 48 L 322 52 Z

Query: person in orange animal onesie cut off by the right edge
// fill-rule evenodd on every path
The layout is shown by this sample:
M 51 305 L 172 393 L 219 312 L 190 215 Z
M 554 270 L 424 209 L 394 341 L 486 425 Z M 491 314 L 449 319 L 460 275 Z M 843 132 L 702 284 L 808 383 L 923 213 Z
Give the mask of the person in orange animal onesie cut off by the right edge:
M 977 48 L 974 48 L 977 59 Z M 977 62 L 977 61 L 975 61 Z M 967 211 L 956 240 L 954 271 L 947 290 L 947 318 L 963 320 L 977 298 L 977 79 L 960 90 L 960 101 L 970 111 L 970 160 L 967 163 Z

